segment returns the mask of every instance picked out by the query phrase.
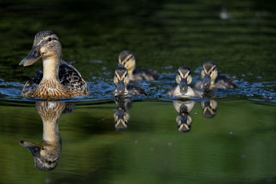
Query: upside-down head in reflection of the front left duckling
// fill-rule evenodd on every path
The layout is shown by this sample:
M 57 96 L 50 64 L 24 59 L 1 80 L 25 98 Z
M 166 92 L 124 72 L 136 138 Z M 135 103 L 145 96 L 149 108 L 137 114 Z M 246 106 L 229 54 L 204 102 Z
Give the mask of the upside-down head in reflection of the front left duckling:
M 115 128 L 117 130 L 126 130 L 128 127 L 128 119 L 130 118 L 128 112 L 125 112 L 124 109 L 118 108 L 115 110 L 114 114 Z

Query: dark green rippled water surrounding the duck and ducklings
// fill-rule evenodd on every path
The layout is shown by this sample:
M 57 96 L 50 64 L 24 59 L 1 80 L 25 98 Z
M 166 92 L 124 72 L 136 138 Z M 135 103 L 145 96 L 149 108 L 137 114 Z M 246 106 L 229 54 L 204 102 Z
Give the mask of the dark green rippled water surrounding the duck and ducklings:
M 275 7 L 274 1 L 1 1 L 0 183 L 275 183 Z M 63 60 L 75 61 L 90 96 L 21 98 L 42 65 L 19 62 L 34 34 L 46 29 L 57 32 Z M 139 82 L 148 96 L 119 104 L 112 76 L 125 49 L 135 53 L 137 67 L 161 77 Z M 210 99 L 166 98 L 179 66 L 193 70 L 195 83 L 207 60 L 238 88 Z M 119 116 L 124 123 L 115 123 Z M 61 152 L 57 167 L 43 172 L 19 141 L 41 143 L 48 128 L 59 132 L 54 150 Z

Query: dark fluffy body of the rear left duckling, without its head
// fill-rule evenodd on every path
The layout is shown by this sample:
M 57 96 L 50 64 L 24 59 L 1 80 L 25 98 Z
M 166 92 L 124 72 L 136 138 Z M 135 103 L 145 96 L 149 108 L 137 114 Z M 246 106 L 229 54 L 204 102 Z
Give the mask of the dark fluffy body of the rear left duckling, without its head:
M 158 74 L 156 70 L 151 70 L 147 68 L 135 68 L 132 72 L 135 80 L 155 80 L 158 79 Z

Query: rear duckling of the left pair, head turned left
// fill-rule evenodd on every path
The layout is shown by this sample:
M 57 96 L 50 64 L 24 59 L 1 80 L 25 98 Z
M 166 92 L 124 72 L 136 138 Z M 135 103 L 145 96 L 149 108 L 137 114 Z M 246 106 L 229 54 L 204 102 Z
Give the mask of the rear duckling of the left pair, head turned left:
M 119 64 L 128 70 L 130 81 L 149 81 L 158 78 L 157 71 L 146 68 L 135 68 L 135 57 L 129 50 L 123 50 L 119 54 Z

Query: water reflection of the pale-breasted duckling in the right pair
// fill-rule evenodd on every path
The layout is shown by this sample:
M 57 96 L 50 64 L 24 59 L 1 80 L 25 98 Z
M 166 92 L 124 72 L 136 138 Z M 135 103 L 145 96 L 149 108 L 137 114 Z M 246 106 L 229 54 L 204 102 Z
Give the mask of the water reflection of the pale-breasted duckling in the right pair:
M 189 112 L 193 109 L 195 101 L 173 101 L 175 110 L 178 115 L 176 118 L 179 132 L 190 132 L 190 125 L 192 124 L 192 117 Z

